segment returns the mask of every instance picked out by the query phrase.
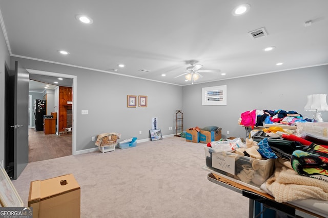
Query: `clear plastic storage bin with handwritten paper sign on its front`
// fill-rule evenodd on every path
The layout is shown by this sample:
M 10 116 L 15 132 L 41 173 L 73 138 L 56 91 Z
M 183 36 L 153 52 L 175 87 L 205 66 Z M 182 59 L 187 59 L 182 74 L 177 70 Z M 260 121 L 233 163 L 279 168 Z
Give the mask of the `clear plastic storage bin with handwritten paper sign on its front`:
M 219 175 L 247 187 L 260 190 L 274 172 L 275 159 L 255 159 L 232 152 L 218 152 L 204 145 L 206 165 Z M 245 176 L 247 175 L 247 176 Z

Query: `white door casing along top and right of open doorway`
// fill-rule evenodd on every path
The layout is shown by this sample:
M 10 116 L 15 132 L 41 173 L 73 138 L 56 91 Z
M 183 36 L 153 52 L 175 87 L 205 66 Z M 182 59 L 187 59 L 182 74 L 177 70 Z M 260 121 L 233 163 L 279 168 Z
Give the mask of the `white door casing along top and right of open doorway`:
M 73 90 L 73 105 L 72 105 L 72 112 L 73 112 L 73 130 L 72 130 L 72 154 L 76 155 L 76 100 L 77 100 L 77 91 L 76 91 L 76 84 L 77 84 L 77 76 L 69 75 L 69 74 L 59 74 L 57 72 L 49 72 L 49 71 L 42 71 L 42 70 L 35 70 L 35 69 L 26 69 L 30 74 L 37 74 L 37 75 L 44 75 L 44 76 L 51 76 L 51 77 L 63 77 L 73 79 L 72 83 L 72 90 Z

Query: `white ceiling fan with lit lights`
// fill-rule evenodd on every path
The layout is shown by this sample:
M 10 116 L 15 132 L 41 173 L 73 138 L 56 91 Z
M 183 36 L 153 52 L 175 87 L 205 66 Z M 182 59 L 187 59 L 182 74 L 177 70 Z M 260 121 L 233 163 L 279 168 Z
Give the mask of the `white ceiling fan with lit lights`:
M 187 62 L 187 64 L 190 64 L 191 66 L 187 67 L 187 70 L 183 70 L 182 72 L 184 72 L 184 73 L 180 74 L 179 76 L 174 77 L 174 79 L 185 75 L 185 78 L 188 81 L 191 81 L 191 84 L 193 84 L 194 82 L 196 82 L 196 80 L 203 77 L 199 74 L 200 72 L 220 72 L 221 71 L 219 69 L 200 69 L 203 65 L 196 64 L 198 62 L 196 60 L 190 60 L 190 61 L 186 61 L 186 62 Z

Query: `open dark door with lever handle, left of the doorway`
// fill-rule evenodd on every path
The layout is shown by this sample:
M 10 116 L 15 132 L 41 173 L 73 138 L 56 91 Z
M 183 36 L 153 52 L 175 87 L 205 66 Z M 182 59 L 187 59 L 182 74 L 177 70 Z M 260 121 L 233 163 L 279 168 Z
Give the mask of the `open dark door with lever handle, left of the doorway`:
M 17 179 L 29 160 L 28 93 L 29 72 L 15 61 L 8 80 L 8 140 L 6 145 L 7 172 Z

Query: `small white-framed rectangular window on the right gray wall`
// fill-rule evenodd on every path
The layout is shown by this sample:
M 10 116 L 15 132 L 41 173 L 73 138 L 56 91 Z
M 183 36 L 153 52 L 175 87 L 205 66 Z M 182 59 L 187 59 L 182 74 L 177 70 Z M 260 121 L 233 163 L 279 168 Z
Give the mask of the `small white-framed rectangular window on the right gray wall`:
M 202 105 L 227 105 L 227 85 L 202 88 Z

